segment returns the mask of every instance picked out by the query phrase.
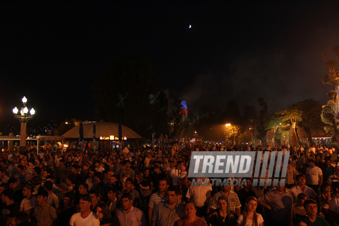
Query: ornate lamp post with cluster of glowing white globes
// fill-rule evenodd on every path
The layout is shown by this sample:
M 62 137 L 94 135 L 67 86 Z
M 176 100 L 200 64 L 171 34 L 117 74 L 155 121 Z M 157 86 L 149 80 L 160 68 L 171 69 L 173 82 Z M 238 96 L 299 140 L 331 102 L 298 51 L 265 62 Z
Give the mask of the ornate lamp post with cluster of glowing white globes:
M 26 124 L 29 119 L 33 118 L 33 115 L 35 114 L 35 110 L 32 108 L 28 115 L 28 108 L 26 107 L 27 98 L 24 96 L 22 98 L 24 107 L 21 108 L 20 114 L 18 113 L 18 109 L 15 107 L 13 109 L 14 118 L 18 119 L 21 123 L 21 129 L 20 129 L 20 149 L 25 149 L 26 147 Z

